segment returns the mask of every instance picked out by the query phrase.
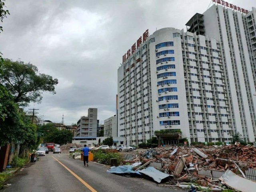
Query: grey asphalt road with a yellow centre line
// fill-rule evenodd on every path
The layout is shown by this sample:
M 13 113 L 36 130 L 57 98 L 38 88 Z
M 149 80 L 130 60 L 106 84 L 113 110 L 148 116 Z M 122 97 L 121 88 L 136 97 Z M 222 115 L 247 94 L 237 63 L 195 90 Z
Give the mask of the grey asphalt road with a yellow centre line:
M 184 192 L 144 178 L 107 173 L 109 166 L 81 160 L 69 154 L 46 154 L 40 161 L 19 170 L 0 192 Z

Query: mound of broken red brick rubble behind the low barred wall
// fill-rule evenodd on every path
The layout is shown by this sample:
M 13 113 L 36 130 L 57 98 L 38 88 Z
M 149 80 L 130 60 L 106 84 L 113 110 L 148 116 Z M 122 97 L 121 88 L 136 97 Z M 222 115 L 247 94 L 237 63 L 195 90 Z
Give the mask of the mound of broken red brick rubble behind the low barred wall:
M 183 165 L 185 167 L 182 172 L 200 169 L 234 170 L 237 169 L 237 165 L 234 162 L 237 162 L 241 168 L 256 168 L 256 148 L 252 146 L 208 146 L 200 148 L 200 150 L 186 146 L 154 148 L 138 153 L 132 162 L 138 160 L 147 162 L 152 159 L 154 159 L 154 162 L 161 162 L 168 166 L 169 174 L 174 174 L 181 160 L 184 163 L 180 162 L 180 166 Z

